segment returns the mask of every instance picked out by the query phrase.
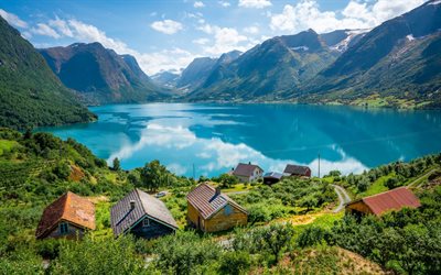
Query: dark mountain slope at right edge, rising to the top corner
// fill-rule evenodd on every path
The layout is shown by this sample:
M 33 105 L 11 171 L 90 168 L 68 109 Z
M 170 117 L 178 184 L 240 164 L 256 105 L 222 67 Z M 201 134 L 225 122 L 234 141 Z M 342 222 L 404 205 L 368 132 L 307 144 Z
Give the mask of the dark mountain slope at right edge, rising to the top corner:
M 441 106 L 440 30 L 441 1 L 429 1 L 365 34 L 293 97 Z

